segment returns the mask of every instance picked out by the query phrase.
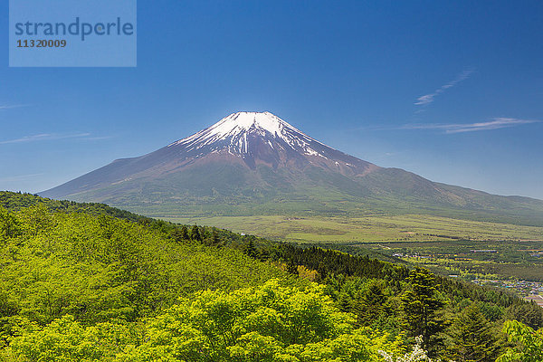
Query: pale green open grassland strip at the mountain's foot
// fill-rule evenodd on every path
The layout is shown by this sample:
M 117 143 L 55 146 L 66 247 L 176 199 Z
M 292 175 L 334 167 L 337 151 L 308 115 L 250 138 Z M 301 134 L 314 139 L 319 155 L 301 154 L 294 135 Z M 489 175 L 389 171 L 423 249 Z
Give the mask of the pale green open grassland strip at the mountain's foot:
M 484 223 L 429 215 L 342 217 L 215 216 L 173 217 L 183 224 L 206 224 L 237 233 L 300 243 L 405 243 L 447 240 L 543 241 L 543 227 Z

